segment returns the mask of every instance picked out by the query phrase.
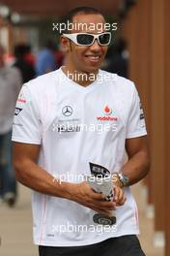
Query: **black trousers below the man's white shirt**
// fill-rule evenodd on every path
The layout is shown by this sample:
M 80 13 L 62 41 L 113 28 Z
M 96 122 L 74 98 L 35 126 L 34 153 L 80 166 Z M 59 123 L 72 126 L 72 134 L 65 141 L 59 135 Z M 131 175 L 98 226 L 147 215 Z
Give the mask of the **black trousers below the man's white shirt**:
M 39 246 L 40 256 L 146 256 L 135 235 L 128 235 L 99 243 L 72 246 L 52 247 Z

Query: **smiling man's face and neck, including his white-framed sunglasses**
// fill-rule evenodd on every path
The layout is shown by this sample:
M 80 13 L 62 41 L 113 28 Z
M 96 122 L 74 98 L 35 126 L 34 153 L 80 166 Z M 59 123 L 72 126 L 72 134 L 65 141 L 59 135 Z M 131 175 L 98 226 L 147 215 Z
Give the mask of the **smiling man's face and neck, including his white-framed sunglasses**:
M 87 86 L 92 83 L 92 80 L 88 80 L 88 76 L 91 77 L 93 74 L 94 80 L 96 80 L 111 40 L 111 33 L 104 31 L 105 19 L 98 11 L 86 15 L 79 12 L 75 16 L 71 16 L 71 22 L 71 33 L 64 33 L 62 37 L 62 46 L 66 52 L 67 63 L 63 71 L 65 73 L 68 71 L 70 74 L 76 74 L 77 72 L 82 74 L 82 80 L 81 76 L 79 76 L 78 81 L 76 76 L 73 80 Z M 94 24 L 94 26 L 92 27 L 91 24 Z M 98 24 L 102 24 L 102 33 L 98 29 Z M 78 28 L 78 30 L 74 28 Z

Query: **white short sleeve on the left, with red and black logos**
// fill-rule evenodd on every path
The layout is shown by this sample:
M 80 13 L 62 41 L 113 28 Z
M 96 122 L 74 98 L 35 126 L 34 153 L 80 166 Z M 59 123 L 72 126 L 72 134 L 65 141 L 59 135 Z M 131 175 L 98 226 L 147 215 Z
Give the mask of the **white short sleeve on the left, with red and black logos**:
M 12 141 L 25 144 L 42 143 L 39 108 L 27 85 L 22 86 L 16 101 Z

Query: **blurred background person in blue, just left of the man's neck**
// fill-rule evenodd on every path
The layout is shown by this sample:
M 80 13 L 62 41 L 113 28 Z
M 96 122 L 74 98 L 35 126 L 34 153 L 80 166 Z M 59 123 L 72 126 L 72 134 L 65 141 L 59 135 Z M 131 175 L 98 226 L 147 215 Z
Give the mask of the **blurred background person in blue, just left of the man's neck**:
M 45 47 L 40 50 L 36 59 L 37 77 L 57 69 L 58 63 L 55 56 L 56 49 L 56 45 L 53 41 L 49 40 Z

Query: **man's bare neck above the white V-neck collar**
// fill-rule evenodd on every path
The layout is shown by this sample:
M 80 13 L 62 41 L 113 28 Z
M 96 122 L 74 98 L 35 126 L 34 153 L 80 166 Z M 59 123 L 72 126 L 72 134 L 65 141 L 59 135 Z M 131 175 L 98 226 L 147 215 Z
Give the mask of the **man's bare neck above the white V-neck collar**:
M 80 71 L 76 71 L 69 68 L 67 65 L 62 67 L 62 71 L 70 80 L 73 80 L 74 82 L 84 87 L 90 85 L 95 80 L 97 80 L 97 76 L 99 73 L 99 72 L 96 72 L 96 73 L 80 72 Z

